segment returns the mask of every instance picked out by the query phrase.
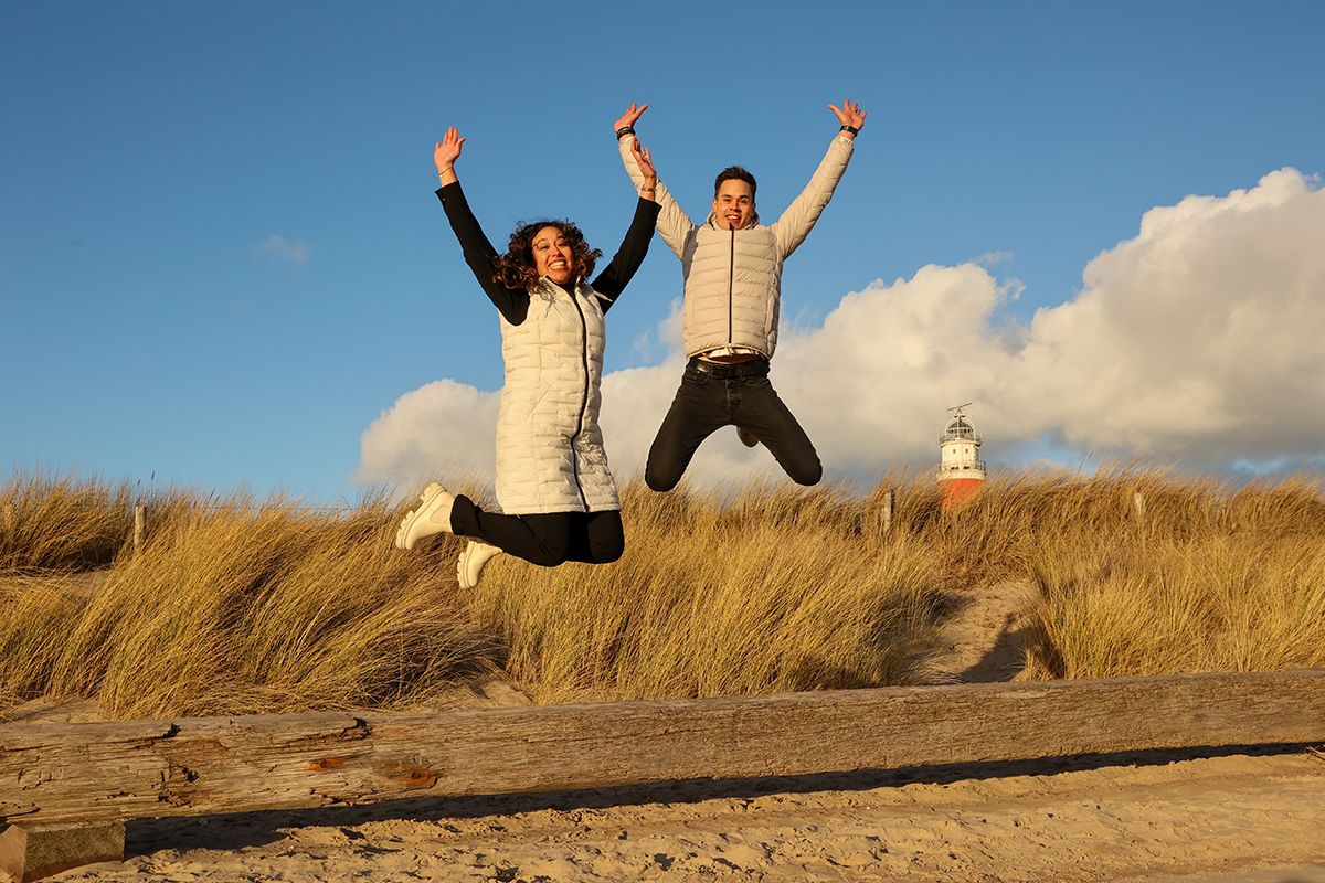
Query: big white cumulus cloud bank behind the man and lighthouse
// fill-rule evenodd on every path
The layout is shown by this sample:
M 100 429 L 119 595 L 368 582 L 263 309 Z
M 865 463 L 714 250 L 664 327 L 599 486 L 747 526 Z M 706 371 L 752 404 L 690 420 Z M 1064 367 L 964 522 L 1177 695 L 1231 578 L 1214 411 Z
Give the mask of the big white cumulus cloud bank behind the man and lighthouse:
M 996 308 L 1020 283 L 986 265 L 925 266 L 845 294 L 818 327 L 784 328 L 772 381 L 829 477 L 871 481 L 937 461 L 945 409 L 971 401 L 987 459 L 1043 445 L 1203 469 L 1310 467 L 1325 450 L 1325 191 L 1285 168 L 1227 196 L 1145 213 L 1140 232 L 1090 261 L 1083 290 L 1030 322 Z M 613 470 L 643 467 L 681 376 L 670 355 L 603 380 Z M 359 477 L 490 475 L 497 393 L 437 381 L 368 428 Z M 779 470 L 719 430 L 692 477 Z

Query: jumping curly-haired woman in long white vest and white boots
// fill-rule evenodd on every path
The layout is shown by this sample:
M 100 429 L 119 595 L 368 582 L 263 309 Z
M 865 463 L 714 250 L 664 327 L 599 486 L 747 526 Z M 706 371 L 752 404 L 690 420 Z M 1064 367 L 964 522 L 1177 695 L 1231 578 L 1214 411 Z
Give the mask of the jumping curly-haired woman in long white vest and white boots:
M 521 224 L 498 254 L 469 209 L 454 163 L 465 139 L 454 126 L 433 150 L 437 199 L 465 262 L 501 312 L 506 384 L 497 416 L 497 502 L 484 511 L 437 483 L 400 522 L 396 547 L 412 549 L 433 534 L 470 537 L 456 576 L 478 584 L 484 565 L 509 552 L 542 567 L 608 564 L 621 557 L 621 504 L 598 425 L 606 328 L 603 316 L 648 253 L 659 205 L 657 173 L 635 146 L 643 173 L 635 218 L 621 248 L 592 282 L 603 253 L 570 221 Z

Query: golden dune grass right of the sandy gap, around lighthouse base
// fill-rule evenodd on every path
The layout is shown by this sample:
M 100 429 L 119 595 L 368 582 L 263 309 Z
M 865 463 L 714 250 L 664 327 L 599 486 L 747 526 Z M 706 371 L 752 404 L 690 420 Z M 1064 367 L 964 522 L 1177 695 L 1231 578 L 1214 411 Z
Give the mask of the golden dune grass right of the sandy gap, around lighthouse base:
M 946 549 L 949 585 L 1032 584 L 1026 678 L 1325 666 L 1318 481 L 1014 474 L 945 515 L 917 490 L 904 530 Z

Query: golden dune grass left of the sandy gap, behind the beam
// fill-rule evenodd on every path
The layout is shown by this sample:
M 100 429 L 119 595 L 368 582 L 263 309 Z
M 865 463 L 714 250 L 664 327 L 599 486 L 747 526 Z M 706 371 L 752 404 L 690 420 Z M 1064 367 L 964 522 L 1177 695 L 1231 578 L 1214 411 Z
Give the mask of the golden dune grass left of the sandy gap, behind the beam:
M 461 597 L 462 540 L 392 548 L 405 504 L 327 515 L 174 492 L 134 555 L 126 488 L 20 481 L 0 499 L 0 708 L 36 696 L 95 699 L 118 718 L 408 707 L 498 669 L 538 702 L 917 678 L 937 559 L 902 532 L 863 532 L 859 500 L 639 485 L 625 499 L 619 564 L 500 559 Z M 61 544 L 62 557 L 25 551 Z M 89 568 L 105 571 L 91 597 L 68 590 L 61 577 Z

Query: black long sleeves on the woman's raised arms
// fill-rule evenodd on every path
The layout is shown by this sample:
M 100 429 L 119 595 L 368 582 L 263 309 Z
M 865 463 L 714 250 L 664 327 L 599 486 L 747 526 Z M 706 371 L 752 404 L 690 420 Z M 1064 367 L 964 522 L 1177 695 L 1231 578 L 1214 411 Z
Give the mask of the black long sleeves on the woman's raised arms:
M 502 316 L 511 324 L 519 324 L 529 314 L 529 293 L 523 289 L 507 289 L 493 277 L 497 271 L 497 249 L 488 241 L 478 218 L 469 208 L 469 200 L 460 188 L 460 181 L 453 181 L 437 189 L 437 199 L 441 200 L 447 210 L 447 220 L 450 229 L 460 240 L 460 249 L 465 254 L 465 263 L 473 270 L 474 278 L 482 286 L 488 298 L 501 310 Z M 659 204 L 640 197 L 635 207 L 635 217 L 631 220 L 621 248 L 612 256 L 612 262 L 598 274 L 590 283 L 595 291 L 607 301 L 600 301 L 603 312 L 612 308 L 616 298 L 625 290 L 625 285 L 635 275 L 635 271 L 644 263 L 644 256 L 649 250 L 649 240 L 653 238 L 653 226 L 657 224 Z

